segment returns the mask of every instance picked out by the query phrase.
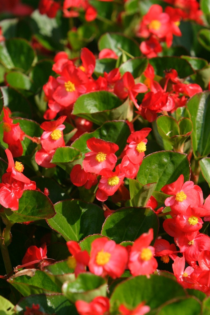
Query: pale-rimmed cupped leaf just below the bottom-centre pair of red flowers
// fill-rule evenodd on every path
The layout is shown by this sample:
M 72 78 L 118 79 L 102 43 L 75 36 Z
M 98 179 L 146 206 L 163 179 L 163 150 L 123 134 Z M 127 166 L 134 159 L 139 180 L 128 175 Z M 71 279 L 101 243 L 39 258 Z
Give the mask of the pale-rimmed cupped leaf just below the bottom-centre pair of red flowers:
M 75 281 L 66 281 L 62 292 L 71 302 L 92 301 L 97 296 L 106 296 L 106 280 L 92 273 L 80 273 Z

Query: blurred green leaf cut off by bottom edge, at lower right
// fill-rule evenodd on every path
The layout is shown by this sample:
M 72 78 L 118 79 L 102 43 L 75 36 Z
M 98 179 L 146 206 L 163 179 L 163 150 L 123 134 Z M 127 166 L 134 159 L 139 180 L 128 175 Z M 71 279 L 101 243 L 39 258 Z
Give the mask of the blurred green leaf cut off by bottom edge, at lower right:
M 200 315 L 201 303 L 193 297 L 167 301 L 156 313 L 157 315 Z

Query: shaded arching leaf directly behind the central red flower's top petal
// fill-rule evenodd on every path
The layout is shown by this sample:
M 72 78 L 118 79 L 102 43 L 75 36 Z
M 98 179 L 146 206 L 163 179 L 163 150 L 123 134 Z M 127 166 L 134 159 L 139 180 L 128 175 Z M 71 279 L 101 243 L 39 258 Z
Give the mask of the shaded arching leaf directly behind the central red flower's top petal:
M 105 141 L 114 142 L 119 146 L 119 150 L 115 153 L 117 156 L 126 146 L 130 130 L 127 123 L 123 121 L 111 121 L 104 123 L 101 127 L 93 132 L 85 133 L 72 143 L 72 147 L 82 152 L 82 157 L 90 150 L 87 147 L 87 140 L 95 137 Z

